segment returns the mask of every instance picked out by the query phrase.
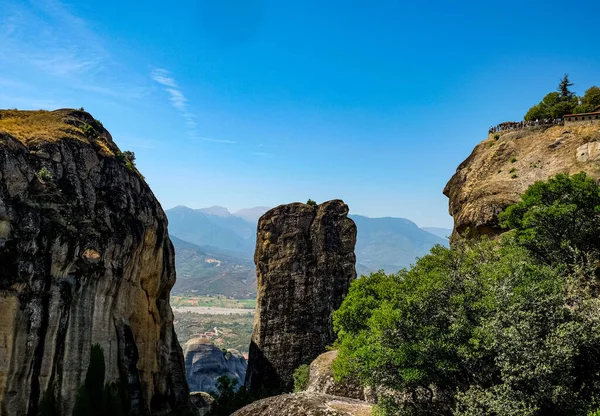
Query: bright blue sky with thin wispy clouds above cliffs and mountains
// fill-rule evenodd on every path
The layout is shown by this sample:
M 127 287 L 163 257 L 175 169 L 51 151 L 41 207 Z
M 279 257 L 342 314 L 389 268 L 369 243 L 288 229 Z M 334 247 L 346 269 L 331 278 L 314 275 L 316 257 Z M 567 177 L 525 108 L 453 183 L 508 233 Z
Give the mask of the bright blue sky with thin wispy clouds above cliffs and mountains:
M 342 198 L 451 226 L 442 189 L 563 73 L 600 3 L 2 0 L 0 107 L 85 107 L 164 208 Z

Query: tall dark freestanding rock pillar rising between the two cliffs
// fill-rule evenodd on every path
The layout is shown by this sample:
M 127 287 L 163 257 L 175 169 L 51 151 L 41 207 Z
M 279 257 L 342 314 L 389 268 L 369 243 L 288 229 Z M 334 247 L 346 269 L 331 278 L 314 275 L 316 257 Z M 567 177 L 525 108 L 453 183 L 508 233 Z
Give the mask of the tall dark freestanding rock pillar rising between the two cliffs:
M 251 392 L 293 388 L 293 372 L 334 341 L 332 313 L 356 278 L 348 206 L 280 205 L 258 223 L 257 309 L 246 373 Z

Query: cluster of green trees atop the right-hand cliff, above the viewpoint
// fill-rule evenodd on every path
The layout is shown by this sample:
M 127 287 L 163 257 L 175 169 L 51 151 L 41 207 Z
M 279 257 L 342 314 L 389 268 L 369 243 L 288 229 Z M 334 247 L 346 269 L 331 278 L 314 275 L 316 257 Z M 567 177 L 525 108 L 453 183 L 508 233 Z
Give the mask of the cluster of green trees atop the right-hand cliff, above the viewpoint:
M 600 106 L 600 88 L 590 87 L 583 97 L 577 97 L 570 90 L 573 85 L 569 80 L 569 75 L 565 74 L 557 91 L 547 94 L 539 104 L 527 111 L 525 121 L 560 118 L 565 114 L 587 113 Z

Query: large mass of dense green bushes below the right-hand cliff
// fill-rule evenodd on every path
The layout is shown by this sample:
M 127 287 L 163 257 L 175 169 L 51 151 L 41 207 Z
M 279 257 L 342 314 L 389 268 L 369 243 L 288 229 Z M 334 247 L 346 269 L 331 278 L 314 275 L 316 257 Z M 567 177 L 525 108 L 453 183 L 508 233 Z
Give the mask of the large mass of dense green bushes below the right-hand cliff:
M 383 415 L 588 415 L 600 407 L 600 188 L 531 186 L 497 241 L 435 247 L 353 282 L 334 314 L 336 377 Z

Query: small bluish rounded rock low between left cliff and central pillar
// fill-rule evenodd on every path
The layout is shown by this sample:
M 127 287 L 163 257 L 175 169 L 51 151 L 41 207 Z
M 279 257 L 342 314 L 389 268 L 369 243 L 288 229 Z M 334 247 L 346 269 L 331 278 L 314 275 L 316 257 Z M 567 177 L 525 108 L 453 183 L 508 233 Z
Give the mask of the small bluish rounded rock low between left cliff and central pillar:
M 192 391 L 213 392 L 217 379 L 227 376 L 236 380 L 235 390 L 244 385 L 246 359 L 238 351 L 223 351 L 206 338 L 194 338 L 185 345 L 185 372 Z

